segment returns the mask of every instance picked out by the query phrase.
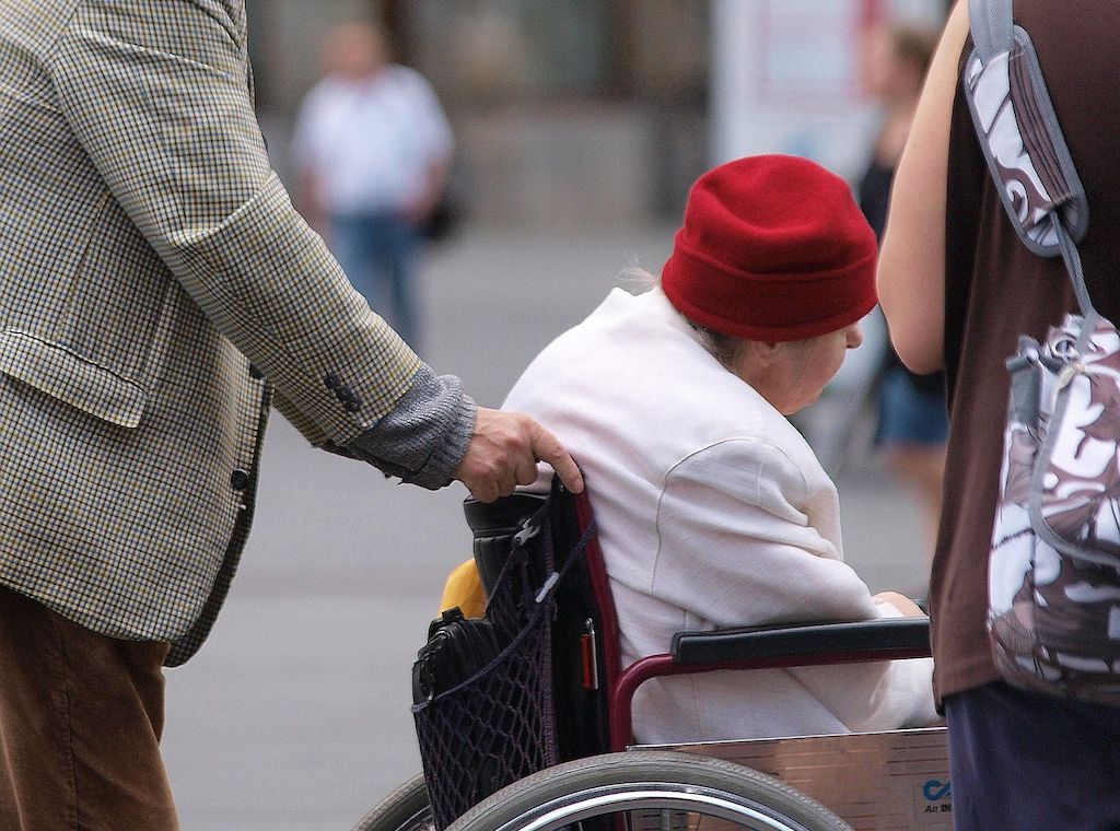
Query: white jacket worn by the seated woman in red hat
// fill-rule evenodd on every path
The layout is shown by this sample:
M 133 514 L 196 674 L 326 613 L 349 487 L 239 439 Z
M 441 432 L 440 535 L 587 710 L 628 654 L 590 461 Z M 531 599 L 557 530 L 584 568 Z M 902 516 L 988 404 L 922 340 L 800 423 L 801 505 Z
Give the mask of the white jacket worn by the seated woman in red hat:
M 790 422 L 728 372 L 660 289 L 615 289 L 550 344 L 505 408 L 584 470 L 624 665 L 673 633 L 897 617 L 843 562 L 836 486 Z M 933 721 L 928 659 L 652 681 L 643 743 L 886 730 Z

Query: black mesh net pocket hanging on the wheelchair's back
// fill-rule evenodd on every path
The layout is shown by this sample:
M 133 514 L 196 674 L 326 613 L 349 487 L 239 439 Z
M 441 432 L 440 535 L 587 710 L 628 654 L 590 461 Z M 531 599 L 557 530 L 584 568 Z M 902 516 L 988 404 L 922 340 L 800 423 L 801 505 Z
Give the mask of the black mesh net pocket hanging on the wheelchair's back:
M 544 512 L 517 533 L 486 606 L 506 646 L 461 684 L 412 708 L 440 829 L 492 793 L 558 762 L 551 592 L 558 578 Z M 551 577 L 540 585 L 535 577 L 542 570 Z

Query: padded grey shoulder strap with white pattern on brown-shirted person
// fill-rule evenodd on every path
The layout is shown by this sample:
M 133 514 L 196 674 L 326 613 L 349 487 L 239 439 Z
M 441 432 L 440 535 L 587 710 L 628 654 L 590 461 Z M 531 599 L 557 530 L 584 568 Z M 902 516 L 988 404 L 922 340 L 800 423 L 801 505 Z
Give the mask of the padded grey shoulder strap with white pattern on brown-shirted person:
M 1074 244 L 1081 242 L 1089 228 L 1089 203 L 1034 44 L 1015 26 L 1011 7 L 1012 0 L 969 0 L 974 48 L 964 65 L 964 94 L 988 170 L 1019 239 L 1040 256 L 1066 259 L 1057 228 L 1064 226 Z M 1074 271 L 1080 268 L 1071 269 L 1075 280 Z M 1083 311 L 1090 309 L 1083 304 Z

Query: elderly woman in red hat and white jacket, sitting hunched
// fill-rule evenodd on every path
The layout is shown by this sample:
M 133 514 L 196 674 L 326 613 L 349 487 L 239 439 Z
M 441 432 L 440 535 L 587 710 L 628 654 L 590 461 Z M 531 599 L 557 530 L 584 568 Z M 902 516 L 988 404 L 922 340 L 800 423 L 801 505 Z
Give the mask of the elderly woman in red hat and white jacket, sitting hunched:
M 786 416 L 861 343 L 875 235 L 804 159 L 732 161 L 694 185 L 661 287 L 620 289 L 557 338 L 505 407 L 584 469 L 622 662 L 674 633 L 917 616 L 844 564 L 837 491 Z M 659 679 L 644 743 L 883 730 L 935 720 L 928 660 Z

